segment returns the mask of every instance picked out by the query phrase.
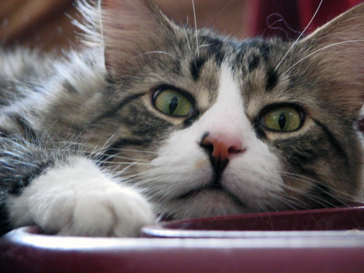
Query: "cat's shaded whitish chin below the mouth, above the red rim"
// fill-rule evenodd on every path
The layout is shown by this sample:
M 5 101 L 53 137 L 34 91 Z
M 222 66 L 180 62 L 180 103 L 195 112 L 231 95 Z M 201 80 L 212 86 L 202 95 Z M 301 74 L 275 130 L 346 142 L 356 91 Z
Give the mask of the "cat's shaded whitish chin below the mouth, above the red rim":
M 190 219 L 254 211 L 226 191 L 211 188 L 168 201 L 160 210 L 168 215 L 168 219 Z

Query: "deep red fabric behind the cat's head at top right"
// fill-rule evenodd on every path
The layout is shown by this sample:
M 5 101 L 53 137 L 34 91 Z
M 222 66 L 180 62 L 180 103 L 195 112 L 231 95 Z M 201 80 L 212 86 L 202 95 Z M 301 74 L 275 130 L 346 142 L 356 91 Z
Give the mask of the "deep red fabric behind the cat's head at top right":
M 251 0 L 254 10 L 250 35 L 298 37 L 315 14 L 321 0 Z M 305 34 L 364 0 L 323 0 Z M 281 16 L 279 16 L 280 14 Z M 283 19 L 283 20 L 282 20 Z M 271 27 L 268 27 L 268 26 Z

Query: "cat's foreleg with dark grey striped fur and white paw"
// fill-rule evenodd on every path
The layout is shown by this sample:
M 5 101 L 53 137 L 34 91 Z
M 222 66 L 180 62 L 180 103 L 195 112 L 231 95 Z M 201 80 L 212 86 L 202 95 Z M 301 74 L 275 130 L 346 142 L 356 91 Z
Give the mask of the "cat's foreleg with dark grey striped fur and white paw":
M 1 205 L 12 227 L 75 236 L 136 237 L 151 205 L 91 159 L 24 140 L 0 141 Z

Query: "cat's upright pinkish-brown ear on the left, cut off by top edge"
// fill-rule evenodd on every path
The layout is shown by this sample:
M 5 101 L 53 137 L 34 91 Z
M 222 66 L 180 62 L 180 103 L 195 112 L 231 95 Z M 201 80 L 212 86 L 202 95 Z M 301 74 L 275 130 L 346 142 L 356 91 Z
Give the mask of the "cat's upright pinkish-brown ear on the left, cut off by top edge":
M 176 27 L 151 0 L 103 0 L 102 6 L 105 64 L 114 77 L 134 66 L 138 55 L 158 50 Z

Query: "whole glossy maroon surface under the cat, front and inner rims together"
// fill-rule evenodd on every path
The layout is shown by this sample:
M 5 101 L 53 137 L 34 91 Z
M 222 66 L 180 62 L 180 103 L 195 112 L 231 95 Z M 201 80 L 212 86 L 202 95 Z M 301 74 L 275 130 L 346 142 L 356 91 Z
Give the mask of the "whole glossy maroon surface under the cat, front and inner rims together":
M 355 205 L 144 228 L 145 236 L 154 231 L 165 237 L 176 237 L 176 232 L 216 237 L 210 239 L 60 237 L 27 227 L 0 238 L 0 272 L 363 273 L 364 231 L 358 230 L 364 226 L 363 215 L 364 206 Z M 351 230 L 340 230 L 346 228 Z

